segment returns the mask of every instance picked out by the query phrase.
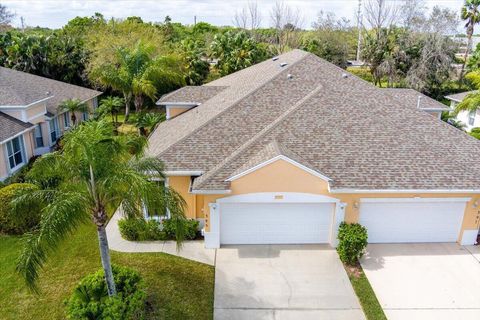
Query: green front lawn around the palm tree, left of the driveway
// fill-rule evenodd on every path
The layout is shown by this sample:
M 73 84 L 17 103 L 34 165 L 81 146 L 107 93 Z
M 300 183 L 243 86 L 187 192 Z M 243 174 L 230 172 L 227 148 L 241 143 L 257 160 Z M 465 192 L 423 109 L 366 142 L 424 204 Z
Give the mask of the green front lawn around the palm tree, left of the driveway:
M 0 236 L 0 309 L 7 319 L 64 319 L 63 301 L 101 266 L 96 232 L 83 226 L 49 259 L 37 296 L 15 273 L 21 238 Z M 139 271 L 148 288 L 150 319 L 212 319 L 214 268 L 162 253 L 112 252 L 113 263 Z

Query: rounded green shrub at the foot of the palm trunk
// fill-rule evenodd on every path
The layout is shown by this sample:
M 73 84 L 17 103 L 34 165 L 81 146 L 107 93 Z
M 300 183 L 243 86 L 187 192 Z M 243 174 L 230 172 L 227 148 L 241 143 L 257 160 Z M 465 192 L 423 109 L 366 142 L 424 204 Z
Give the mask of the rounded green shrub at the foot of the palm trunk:
M 68 319 L 140 320 L 147 294 L 140 274 L 112 266 L 117 295 L 109 297 L 103 269 L 83 278 L 66 301 Z

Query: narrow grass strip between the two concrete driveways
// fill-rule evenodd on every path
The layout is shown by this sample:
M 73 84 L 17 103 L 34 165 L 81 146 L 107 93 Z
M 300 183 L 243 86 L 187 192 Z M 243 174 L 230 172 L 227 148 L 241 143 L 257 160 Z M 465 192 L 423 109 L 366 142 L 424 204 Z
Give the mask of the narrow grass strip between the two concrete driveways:
M 362 267 L 358 264 L 355 267 L 345 266 L 348 278 L 352 283 L 353 290 L 357 294 L 362 305 L 363 312 L 368 320 L 387 320 L 377 296 L 368 282 Z

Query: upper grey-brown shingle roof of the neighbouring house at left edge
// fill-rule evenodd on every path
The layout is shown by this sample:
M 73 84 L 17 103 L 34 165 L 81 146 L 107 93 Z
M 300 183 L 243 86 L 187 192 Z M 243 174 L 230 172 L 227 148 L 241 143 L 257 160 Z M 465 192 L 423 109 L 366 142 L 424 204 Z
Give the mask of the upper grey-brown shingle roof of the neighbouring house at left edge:
M 47 97 L 47 110 L 57 113 L 67 99 L 90 100 L 102 92 L 73 84 L 0 67 L 0 105 L 28 105 Z

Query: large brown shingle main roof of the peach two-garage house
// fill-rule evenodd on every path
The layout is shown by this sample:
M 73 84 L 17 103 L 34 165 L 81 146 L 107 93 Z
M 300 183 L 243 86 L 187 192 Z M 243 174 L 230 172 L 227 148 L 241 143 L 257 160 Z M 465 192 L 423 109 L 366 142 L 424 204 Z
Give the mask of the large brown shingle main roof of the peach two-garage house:
M 312 54 L 293 50 L 208 85 L 228 88 L 161 123 L 147 152 L 168 171 L 203 171 L 193 190 L 227 190 L 275 154 L 333 190 L 479 189 L 480 141 Z

